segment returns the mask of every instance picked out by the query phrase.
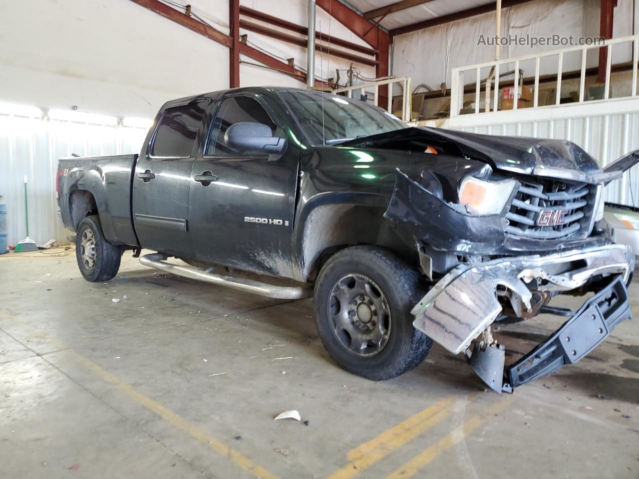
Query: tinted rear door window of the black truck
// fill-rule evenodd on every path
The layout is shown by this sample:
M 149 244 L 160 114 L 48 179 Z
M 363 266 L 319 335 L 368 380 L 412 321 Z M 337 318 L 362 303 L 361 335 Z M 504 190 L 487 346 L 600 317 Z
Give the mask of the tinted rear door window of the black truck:
M 155 133 L 151 155 L 180 158 L 191 156 L 207 103 L 202 100 L 164 110 Z

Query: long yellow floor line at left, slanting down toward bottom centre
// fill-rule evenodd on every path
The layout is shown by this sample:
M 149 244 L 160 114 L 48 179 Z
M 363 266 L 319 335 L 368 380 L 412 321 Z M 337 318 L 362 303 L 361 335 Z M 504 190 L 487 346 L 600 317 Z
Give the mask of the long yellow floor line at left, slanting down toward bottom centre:
M 23 321 L 14 319 L 9 314 L 3 314 L 1 316 L 7 317 L 8 319 L 10 319 L 10 321 L 12 321 L 15 324 L 24 326 L 25 328 L 27 328 L 30 331 L 33 331 L 40 337 L 47 338 L 49 342 L 51 342 L 52 344 L 55 344 L 56 346 L 59 346 L 60 349 L 65 349 L 65 346 L 58 340 L 58 338 L 51 337 L 50 335 L 45 333 L 45 331 L 38 330 L 38 328 L 34 328 L 33 326 L 31 326 L 31 324 L 27 324 L 27 323 L 24 323 Z M 84 367 L 86 367 L 88 370 L 93 372 L 93 374 L 100 377 L 100 379 L 103 379 L 107 383 L 112 384 L 113 386 L 116 386 L 121 392 L 125 393 L 128 397 L 134 399 L 135 402 L 146 407 L 146 409 L 149 409 L 153 413 L 157 414 L 158 416 L 160 416 L 160 418 L 164 419 L 166 422 L 168 422 L 172 426 L 183 430 L 183 432 L 186 432 L 187 434 L 189 434 L 189 436 L 193 437 L 194 439 L 197 439 L 197 441 L 208 446 L 214 452 L 224 457 L 228 457 L 236 466 L 239 466 L 240 468 L 244 469 L 245 471 L 250 473 L 250 475 L 260 479 L 279 479 L 277 476 L 271 474 L 262 466 L 259 466 L 258 464 L 255 464 L 254 462 L 252 462 L 252 460 L 250 460 L 248 457 L 246 457 L 242 453 L 229 448 L 229 446 L 227 446 L 225 443 L 223 443 L 219 439 L 215 439 L 215 437 L 211 436 L 207 432 L 204 432 L 203 430 L 199 429 L 198 427 L 196 427 L 189 421 L 185 420 L 183 417 L 174 413 L 173 411 L 171 411 L 171 409 L 162 406 L 162 404 L 155 402 L 150 397 L 146 397 L 141 392 L 137 392 L 133 388 L 133 386 L 126 383 L 125 381 L 122 381 L 121 379 L 114 376 L 107 370 L 102 369 L 100 366 L 96 365 L 96 363 L 94 363 L 93 361 L 82 356 L 82 354 L 76 353 L 75 351 L 73 351 L 73 349 L 66 349 L 66 351 L 63 351 L 63 353 L 70 354 L 71 356 L 73 356 L 75 360 L 77 360 Z

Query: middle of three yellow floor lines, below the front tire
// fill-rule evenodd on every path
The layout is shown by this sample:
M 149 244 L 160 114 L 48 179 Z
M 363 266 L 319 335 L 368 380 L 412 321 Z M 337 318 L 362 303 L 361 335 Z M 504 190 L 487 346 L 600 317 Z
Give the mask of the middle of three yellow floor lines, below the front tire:
M 404 422 L 397 424 L 381 433 L 371 441 L 358 446 L 346 455 L 349 464 L 335 471 L 327 479 L 350 479 L 357 476 L 380 461 L 397 448 L 415 439 L 424 431 L 430 429 L 452 412 L 456 396 L 439 400 L 424 411 L 410 416 Z

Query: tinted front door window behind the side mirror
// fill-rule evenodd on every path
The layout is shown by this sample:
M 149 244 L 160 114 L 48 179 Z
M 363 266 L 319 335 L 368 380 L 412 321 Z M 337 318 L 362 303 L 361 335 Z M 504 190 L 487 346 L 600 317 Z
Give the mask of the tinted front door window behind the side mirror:
M 224 153 L 264 153 L 263 151 L 239 151 L 224 142 L 224 134 L 229 126 L 242 121 L 256 121 L 267 125 L 273 134 L 277 126 L 257 100 L 248 96 L 231 96 L 226 98 L 217 112 L 211 135 L 206 147 L 206 155 L 222 155 Z

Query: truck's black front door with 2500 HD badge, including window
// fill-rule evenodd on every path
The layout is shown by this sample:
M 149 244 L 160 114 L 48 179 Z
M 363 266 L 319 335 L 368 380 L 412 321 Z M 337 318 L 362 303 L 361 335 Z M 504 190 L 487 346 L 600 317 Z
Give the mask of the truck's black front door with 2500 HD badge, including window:
M 208 141 L 193 163 L 189 201 L 192 248 L 197 259 L 293 277 L 291 238 L 299 153 L 239 151 L 226 144 L 229 126 L 254 121 L 284 137 L 256 95 L 231 94 L 212 105 Z

